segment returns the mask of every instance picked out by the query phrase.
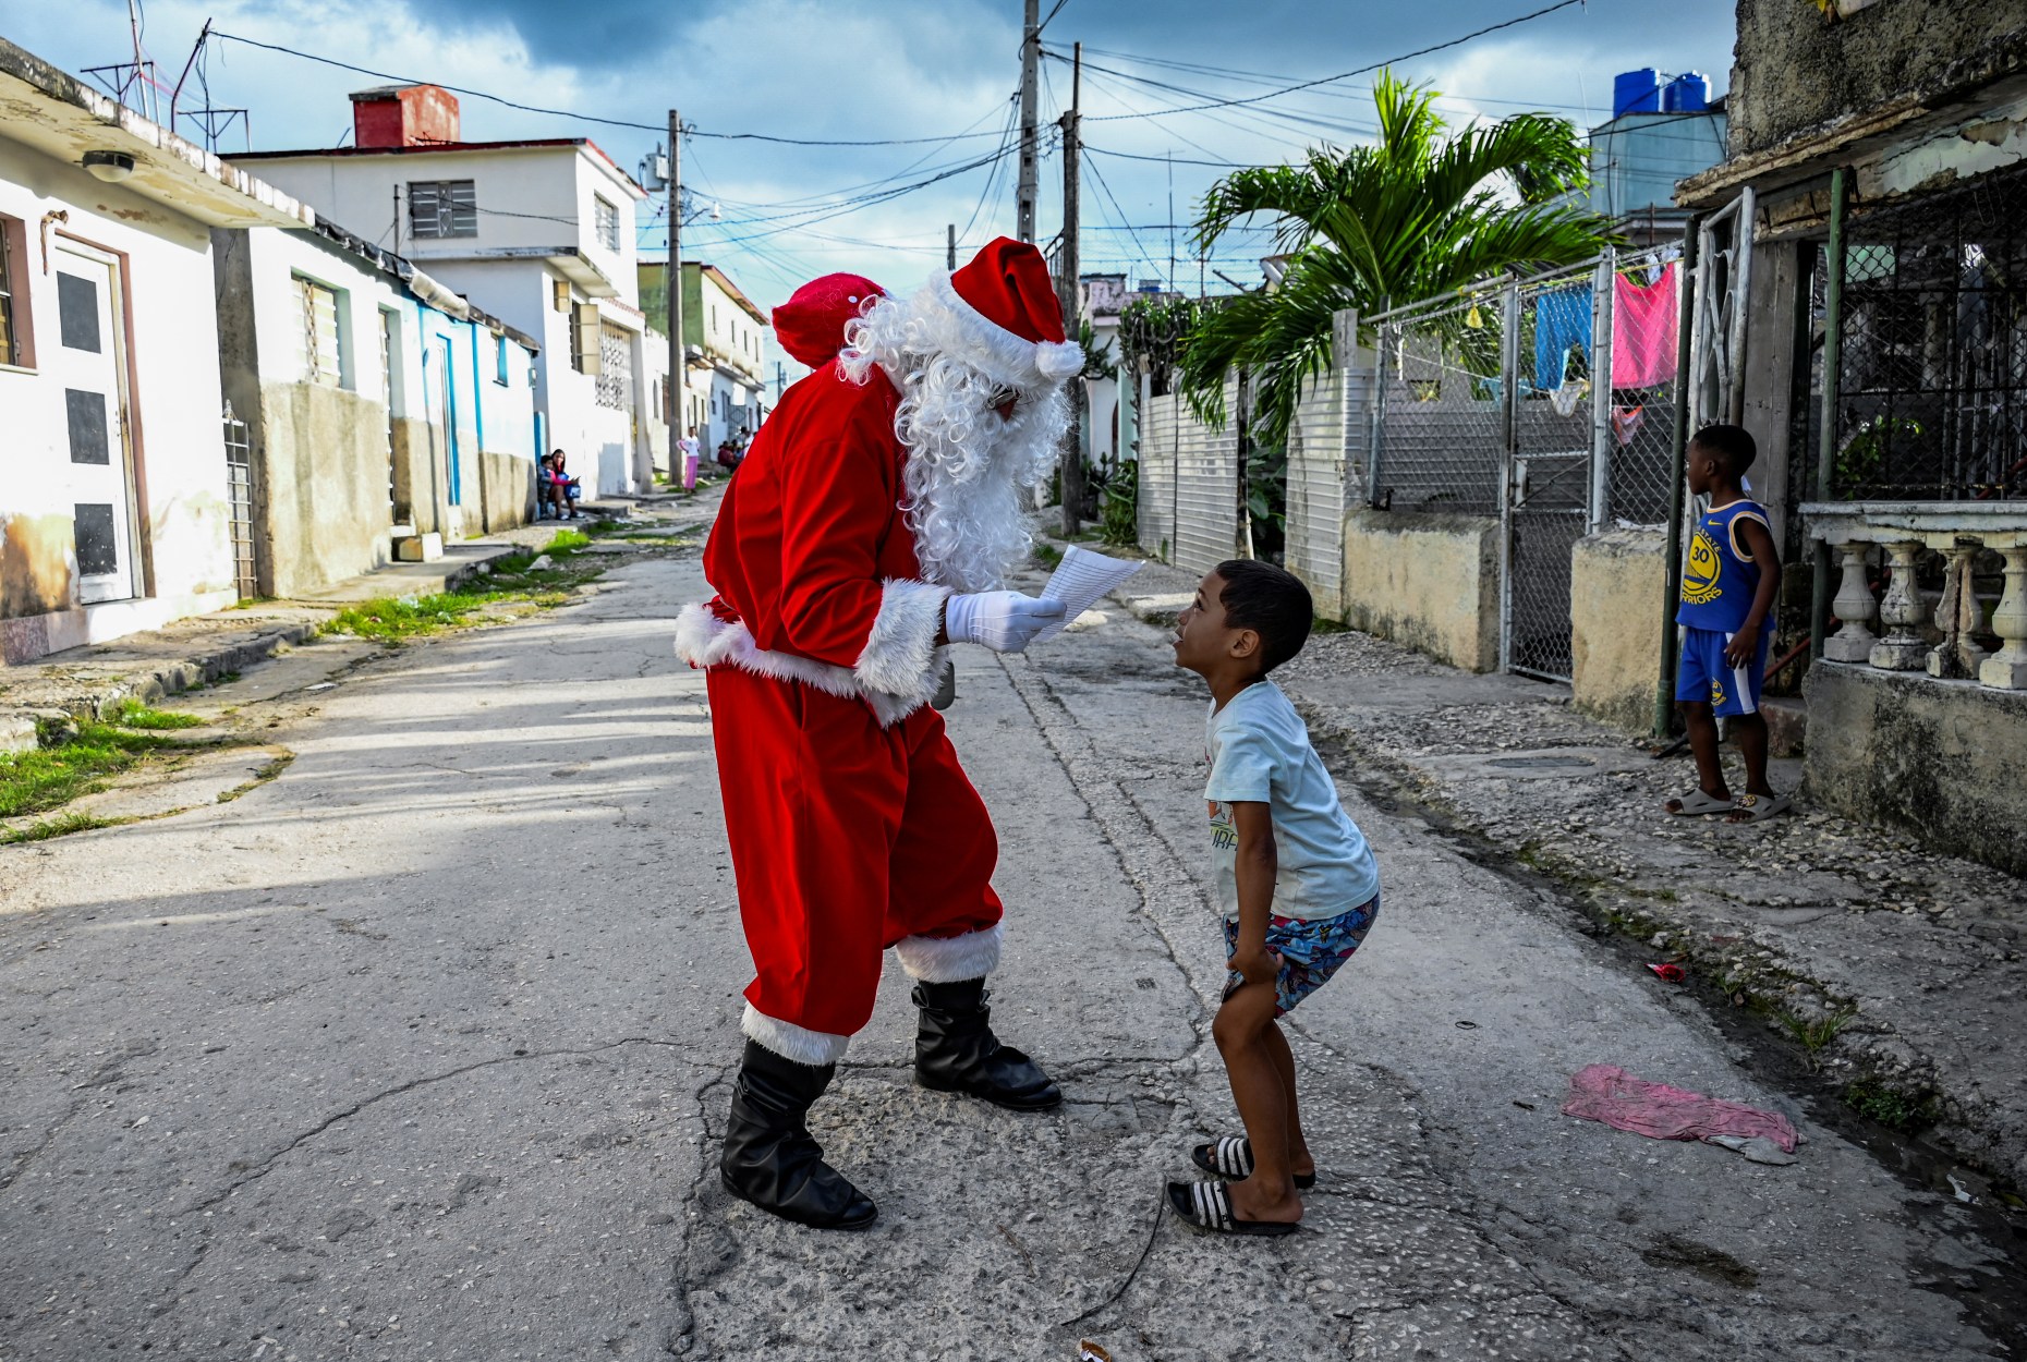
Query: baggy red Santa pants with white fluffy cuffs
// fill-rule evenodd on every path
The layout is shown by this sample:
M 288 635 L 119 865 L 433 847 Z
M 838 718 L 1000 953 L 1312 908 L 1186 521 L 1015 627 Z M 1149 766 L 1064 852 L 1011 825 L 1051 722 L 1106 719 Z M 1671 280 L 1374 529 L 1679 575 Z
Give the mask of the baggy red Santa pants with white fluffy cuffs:
M 880 728 L 861 699 L 738 667 L 711 667 L 705 689 L 756 971 L 746 1034 L 795 1060 L 837 1058 L 894 944 L 918 977 L 985 975 L 999 839 L 943 715 L 924 705 Z M 825 1040 L 829 1054 L 809 1050 Z

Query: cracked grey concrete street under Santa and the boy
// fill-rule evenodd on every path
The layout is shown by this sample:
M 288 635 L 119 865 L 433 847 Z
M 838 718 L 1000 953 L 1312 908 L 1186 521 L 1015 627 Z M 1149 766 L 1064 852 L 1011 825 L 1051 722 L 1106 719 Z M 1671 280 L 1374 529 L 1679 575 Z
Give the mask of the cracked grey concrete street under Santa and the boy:
M 1970 1220 L 1350 784 L 1386 914 L 1291 1028 L 1305 1230 L 1159 1214 L 1234 1117 L 1204 699 L 1123 614 L 965 649 L 951 711 L 1001 833 L 995 1022 L 1068 1103 L 914 1088 L 890 963 L 815 1113 L 880 1224 L 732 1202 L 748 959 L 701 677 L 669 649 L 701 592 L 693 553 L 620 561 L 345 671 L 237 803 L 0 849 L 0 1358 L 2011 1356 L 1962 1305 L 2009 1271 Z M 1786 1105 L 1802 1157 L 1567 1119 L 1589 1062 Z

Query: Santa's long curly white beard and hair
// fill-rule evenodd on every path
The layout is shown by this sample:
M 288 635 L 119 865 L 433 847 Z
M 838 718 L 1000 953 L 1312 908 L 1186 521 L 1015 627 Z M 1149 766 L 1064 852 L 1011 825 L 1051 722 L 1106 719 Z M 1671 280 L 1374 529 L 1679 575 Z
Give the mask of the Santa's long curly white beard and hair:
M 1007 391 L 947 353 L 922 353 L 922 308 L 932 298 L 882 298 L 847 328 L 839 357 L 864 383 L 878 367 L 900 389 L 894 436 L 908 450 L 904 507 L 922 580 L 989 592 L 1028 549 L 1022 493 L 1054 468 L 1070 430 L 1062 383 L 1018 393 L 1011 420 L 993 409 Z

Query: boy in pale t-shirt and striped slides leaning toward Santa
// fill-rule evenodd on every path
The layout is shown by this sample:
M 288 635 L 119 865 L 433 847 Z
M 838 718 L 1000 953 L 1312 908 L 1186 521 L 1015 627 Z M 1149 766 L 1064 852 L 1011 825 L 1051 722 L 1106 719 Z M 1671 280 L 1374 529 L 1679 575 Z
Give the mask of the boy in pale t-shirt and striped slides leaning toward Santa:
M 1172 1182 L 1174 1212 L 1202 1230 L 1293 1234 L 1316 1159 L 1295 1109 L 1295 1056 L 1277 1017 L 1328 981 L 1372 928 L 1380 872 L 1364 833 L 1267 673 L 1309 638 L 1309 588 L 1234 559 L 1196 588 L 1176 624 L 1176 665 L 1210 683 L 1204 746 L 1210 847 L 1230 977 L 1210 1032 L 1247 1137 L 1192 1151 L 1218 1182 Z

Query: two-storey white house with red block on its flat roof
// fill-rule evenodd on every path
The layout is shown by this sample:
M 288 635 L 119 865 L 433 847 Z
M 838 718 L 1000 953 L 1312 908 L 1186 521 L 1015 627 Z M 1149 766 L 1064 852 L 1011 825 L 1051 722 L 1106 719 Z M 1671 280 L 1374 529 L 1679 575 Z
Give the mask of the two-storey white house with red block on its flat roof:
M 237 162 L 393 253 L 541 347 L 543 442 L 586 488 L 647 490 L 647 318 L 634 207 L 647 197 L 588 138 L 464 142 L 434 85 L 353 95 L 355 146 L 253 152 Z

